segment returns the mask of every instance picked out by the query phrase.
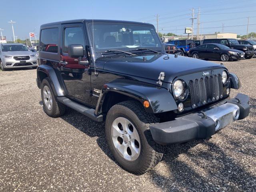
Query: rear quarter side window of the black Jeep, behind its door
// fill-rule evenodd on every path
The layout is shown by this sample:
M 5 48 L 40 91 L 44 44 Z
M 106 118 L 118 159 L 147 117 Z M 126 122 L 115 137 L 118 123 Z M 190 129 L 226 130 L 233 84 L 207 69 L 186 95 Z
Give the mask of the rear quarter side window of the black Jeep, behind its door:
M 41 30 L 40 51 L 58 53 L 58 28 Z

